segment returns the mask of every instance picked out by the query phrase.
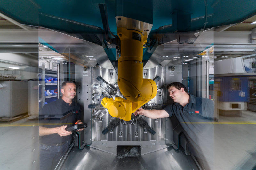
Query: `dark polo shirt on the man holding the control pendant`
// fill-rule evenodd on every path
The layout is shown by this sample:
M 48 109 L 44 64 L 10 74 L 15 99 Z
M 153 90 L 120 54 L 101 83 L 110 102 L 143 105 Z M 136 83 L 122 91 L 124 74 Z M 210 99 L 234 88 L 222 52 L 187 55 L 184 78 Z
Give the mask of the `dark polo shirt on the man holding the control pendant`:
M 62 125 L 71 127 L 75 125 L 77 120 L 81 120 L 80 105 L 72 100 L 71 105 L 59 98 L 56 101 L 44 105 L 40 115 L 57 115 L 60 118 L 45 118 L 39 120 L 39 126 L 54 128 Z M 56 144 L 62 142 L 70 142 L 72 140 L 72 134 L 68 136 L 60 136 L 57 133 L 51 135 L 44 135 L 39 137 L 42 144 Z

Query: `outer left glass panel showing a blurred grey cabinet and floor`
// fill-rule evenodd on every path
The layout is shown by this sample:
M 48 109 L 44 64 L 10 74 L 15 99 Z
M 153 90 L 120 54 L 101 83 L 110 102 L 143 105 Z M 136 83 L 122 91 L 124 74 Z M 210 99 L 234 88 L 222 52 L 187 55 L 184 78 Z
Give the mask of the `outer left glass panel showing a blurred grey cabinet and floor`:
M 38 30 L 0 20 L 0 169 L 39 169 Z

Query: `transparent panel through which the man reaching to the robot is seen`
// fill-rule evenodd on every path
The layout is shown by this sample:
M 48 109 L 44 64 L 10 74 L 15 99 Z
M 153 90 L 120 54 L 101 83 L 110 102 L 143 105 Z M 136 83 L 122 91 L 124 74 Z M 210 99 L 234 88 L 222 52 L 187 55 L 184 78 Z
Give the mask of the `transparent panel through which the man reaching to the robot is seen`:
M 190 153 L 194 161 L 199 162 L 204 169 L 213 169 L 214 105 L 212 100 L 214 94 L 210 77 L 212 81 L 214 79 L 214 30 L 209 29 L 198 35 L 199 32 L 164 34 L 162 36 L 164 38 L 161 39 L 163 45 L 160 45 L 164 47 L 161 51 L 156 49 L 158 57 L 159 54 L 162 55 L 160 56 L 162 60 L 166 61 L 166 57 L 171 57 L 169 63 L 161 62 L 166 67 L 166 85 L 173 82 L 184 84 L 184 87 L 178 84 L 171 84 L 169 87 L 170 97 L 167 96 L 166 104 L 173 102 L 179 104 L 170 106 L 168 111 L 172 116 L 171 123 L 168 123 L 169 119 L 166 118 L 166 144 L 172 144 L 175 149 Z M 171 40 L 172 37 L 177 36 L 180 39 L 164 42 L 164 39 Z M 195 37 L 195 41 L 189 44 L 181 42 L 182 38 L 189 39 L 189 37 Z M 179 96 L 175 91 L 172 93 L 172 89 L 183 90 L 182 88 L 189 93 L 187 95 L 189 101 L 184 105 L 180 103 L 182 103 L 182 96 L 186 95 Z M 168 89 L 166 90 L 168 93 Z

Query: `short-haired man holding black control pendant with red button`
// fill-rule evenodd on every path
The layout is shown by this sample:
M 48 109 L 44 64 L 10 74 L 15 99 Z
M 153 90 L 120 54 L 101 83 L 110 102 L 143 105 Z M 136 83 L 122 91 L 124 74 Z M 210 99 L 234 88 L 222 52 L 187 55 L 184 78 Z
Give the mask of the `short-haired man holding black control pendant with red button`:
M 40 112 L 41 116 L 52 117 L 39 122 L 40 170 L 54 169 L 57 166 L 73 139 L 72 132 L 66 131 L 66 128 L 76 122 L 83 124 L 82 110 L 73 100 L 76 96 L 75 82 L 63 82 L 61 93 L 61 98 L 46 104 Z

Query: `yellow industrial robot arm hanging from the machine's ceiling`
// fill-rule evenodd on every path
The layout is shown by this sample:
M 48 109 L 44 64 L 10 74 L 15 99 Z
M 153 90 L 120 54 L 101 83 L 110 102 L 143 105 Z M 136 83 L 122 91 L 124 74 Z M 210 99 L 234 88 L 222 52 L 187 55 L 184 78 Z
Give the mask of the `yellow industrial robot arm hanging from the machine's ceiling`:
M 116 97 L 104 98 L 101 104 L 108 108 L 113 117 L 131 120 L 131 114 L 136 109 L 156 96 L 157 86 L 151 79 L 143 79 L 143 44 L 147 36 L 136 30 L 118 28 L 117 34 L 121 40 L 121 57 L 118 59 L 118 87 L 127 99 Z

